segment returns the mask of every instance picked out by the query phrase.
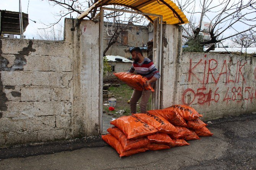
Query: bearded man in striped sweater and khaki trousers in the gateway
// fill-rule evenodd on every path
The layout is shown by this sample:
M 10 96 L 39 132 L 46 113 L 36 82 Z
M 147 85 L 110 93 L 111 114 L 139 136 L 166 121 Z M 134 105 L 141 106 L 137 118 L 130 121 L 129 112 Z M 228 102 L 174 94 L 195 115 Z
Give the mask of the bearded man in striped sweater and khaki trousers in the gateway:
M 159 71 L 157 71 L 154 63 L 149 58 L 145 58 L 143 56 L 139 47 L 133 48 L 130 50 L 130 53 L 134 62 L 128 72 L 133 73 L 136 71 L 137 74 L 142 75 L 148 79 L 145 86 L 150 84 L 152 87 L 154 87 L 154 83 L 160 78 Z M 133 95 L 131 95 L 130 99 L 131 114 L 136 113 L 136 106 L 139 98 L 141 98 L 141 102 L 139 104 L 140 112 L 146 113 L 147 102 L 150 95 L 151 90 L 139 91 L 134 89 Z

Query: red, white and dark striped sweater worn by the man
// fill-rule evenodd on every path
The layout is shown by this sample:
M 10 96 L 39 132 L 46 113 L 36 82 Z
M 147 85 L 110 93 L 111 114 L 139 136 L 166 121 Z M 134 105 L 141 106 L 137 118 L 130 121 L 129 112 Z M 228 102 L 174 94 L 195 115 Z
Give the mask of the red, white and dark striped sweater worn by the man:
M 133 73 L 134 71 L 148 80 L 152 77 L 160 78 L 159 71 L 157 71 L 155 64 L 149 58 L 144 58 L 142 63 L 134 61 L 128 72 Z

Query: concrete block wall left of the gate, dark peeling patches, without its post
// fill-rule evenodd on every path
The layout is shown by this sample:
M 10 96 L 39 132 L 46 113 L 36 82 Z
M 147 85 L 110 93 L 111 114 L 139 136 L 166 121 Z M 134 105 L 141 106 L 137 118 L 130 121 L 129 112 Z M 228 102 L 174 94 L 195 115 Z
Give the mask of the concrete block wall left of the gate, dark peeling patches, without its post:
M 0 146 L 70 138 L 73 73 L 67 47 L 0 39 Z

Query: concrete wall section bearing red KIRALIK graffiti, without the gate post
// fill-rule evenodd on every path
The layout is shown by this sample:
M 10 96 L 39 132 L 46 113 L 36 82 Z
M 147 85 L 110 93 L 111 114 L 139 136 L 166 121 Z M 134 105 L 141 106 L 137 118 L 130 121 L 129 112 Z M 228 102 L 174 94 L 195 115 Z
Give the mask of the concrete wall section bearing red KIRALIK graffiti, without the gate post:
M 184 52 L 178 67 L 176 102 L 203 119 L 256 111 L 256 58 Z

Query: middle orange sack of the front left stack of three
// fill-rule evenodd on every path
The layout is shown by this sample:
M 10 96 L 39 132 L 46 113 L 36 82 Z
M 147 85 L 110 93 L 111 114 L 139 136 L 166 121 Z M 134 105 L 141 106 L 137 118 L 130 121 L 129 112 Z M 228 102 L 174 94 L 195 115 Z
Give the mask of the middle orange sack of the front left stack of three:
M 149 140 L 147 138 L 139 138 L 135 140 L 127 139 L 125 134 L 117 127 L 108 128 L 107 132 L 109 132 L 122 144 L 124 151 L 136 148 L 143 148 L 146 147 L 147 144 L 149 144 Z

